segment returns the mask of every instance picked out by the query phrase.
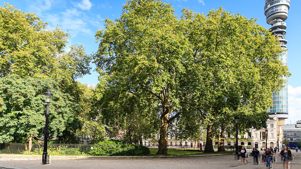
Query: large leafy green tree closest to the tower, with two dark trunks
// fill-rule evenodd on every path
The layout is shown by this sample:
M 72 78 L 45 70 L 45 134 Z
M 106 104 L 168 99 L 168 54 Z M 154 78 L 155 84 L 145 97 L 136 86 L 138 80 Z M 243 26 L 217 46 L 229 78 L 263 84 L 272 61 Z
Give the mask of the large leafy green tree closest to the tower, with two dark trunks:
M 242 131 L 265 127 L 272 91 L 283 87 L 280 77 L 289 76 L 277 58 L 283 50 L 256 19 L 222 8 L 207 15 L 184 9 L 181 19 L 198 67 L 190 72 L 194 90 L 189 105 L 207 124 L 205 152 L 213 151 L 214 131 L 220 131 L 219 151 L 224 151 L 225 130 L 233 128 L 234 115 L 239 114 Z

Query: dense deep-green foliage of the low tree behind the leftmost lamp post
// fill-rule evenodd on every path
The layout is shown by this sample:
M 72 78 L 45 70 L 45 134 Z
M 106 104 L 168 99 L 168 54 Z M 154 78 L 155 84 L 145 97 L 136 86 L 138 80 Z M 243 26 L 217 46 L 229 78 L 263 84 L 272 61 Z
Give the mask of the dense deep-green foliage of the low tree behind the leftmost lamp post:
M 23 142 L 30 134 L 44 135 L 46 103 L 43 93 L 48 88 L 54 94 L 49 107 L 50 139 L 74 136 L 81 125 L 73 116 L 76 106 L 73 98 L 62 93 L 59 84 L 50 78 L 21 78 L 13 74 L 0 78 L 1 143 Z

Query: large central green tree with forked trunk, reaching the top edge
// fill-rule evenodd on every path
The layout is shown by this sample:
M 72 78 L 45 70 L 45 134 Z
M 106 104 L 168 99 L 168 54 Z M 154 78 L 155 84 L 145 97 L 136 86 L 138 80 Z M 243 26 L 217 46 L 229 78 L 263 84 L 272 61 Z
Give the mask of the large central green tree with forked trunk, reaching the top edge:
M 100 80 L 117 93 L 160 105 L 157 154 L 166 154 L 167 127 L 182 113 L 179 103 L 187 95 L 183 88 L 191 55 L 184 25 L 171 4 L 153 0 L 127 1 L 115 21 L 106 19 L 105 29 L 95 35 L 100 42 L 94 55 Z

